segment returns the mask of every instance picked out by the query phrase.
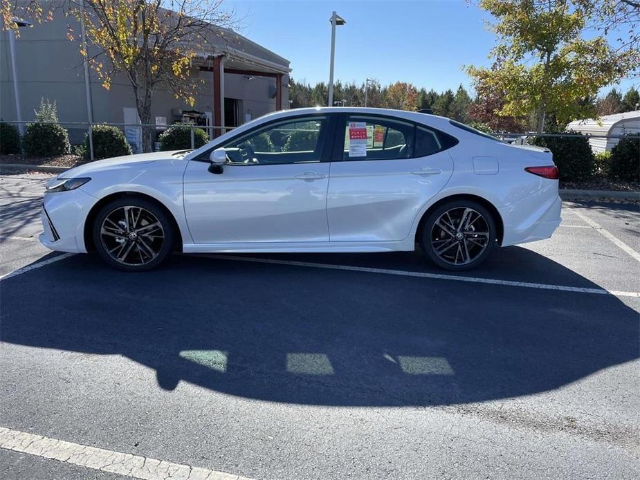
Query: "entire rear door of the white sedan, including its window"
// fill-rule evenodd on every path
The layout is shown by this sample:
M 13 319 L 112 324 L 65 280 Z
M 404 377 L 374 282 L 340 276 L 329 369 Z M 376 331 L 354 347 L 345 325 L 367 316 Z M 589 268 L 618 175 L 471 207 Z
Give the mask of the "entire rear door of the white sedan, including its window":
M 337 129 L 327 192 L 329 239 L 404 240 L 423 206 L 448 182 L 452 144 L 426 125 L 373 113 L 346 114 Z

